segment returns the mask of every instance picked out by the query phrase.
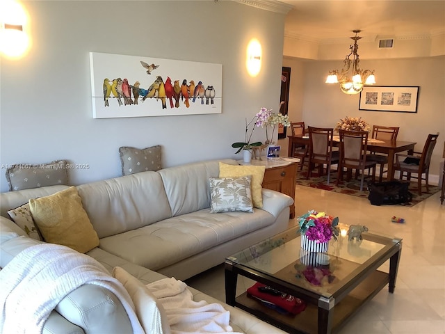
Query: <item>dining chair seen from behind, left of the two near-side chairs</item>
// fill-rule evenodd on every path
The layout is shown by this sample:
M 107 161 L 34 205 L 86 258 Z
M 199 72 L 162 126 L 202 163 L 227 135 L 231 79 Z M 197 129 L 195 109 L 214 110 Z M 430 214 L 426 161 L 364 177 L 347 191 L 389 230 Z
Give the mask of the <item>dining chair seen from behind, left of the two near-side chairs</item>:
M 312 170 L 318 165 L 318 175 L 323 175 L 324 165 L 327 170 L 327 184 L 330 181 L 331 165 L 339 164 L 339 151 L 332 150 L 334 128 L 307 127 L 309 130 L 309 170 L 306 180 L 312 177 Z

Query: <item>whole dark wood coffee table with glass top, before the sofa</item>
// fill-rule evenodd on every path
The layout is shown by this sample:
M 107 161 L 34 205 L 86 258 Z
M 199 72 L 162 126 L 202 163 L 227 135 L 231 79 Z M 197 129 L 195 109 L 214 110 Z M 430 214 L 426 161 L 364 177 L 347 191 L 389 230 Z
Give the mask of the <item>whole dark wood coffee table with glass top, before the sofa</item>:
M 298 227 L 241 250 L 225 260 L 226 303 L 250 312 L 289 333 L 336 333 L 359 307 L 386 285 L 394 292 L 402 239 L 363 232 L 363 240 L 331 239 L 326 253 L 300 248 Z M 389 263 L 386 263 L 389 262 Z M 322 270 L 323 269 L 323 270 Z M 325 273 L 314 279 L 314 271 Z M 238 275 L 307 303 L 298 315 L 270 310 L 248 296 L 236 297 Z

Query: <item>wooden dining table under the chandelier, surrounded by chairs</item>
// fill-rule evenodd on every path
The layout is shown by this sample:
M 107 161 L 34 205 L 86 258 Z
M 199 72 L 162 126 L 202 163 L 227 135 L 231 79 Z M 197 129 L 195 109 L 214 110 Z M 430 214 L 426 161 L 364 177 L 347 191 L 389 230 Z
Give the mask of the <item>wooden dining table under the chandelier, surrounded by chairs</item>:
M 293 157 L 292 152 L 296 145 L 309 145 L 309 136 L 287 136 L 287 138 L 289 138 L 288 157 Z M 340 142 L 339 136 L 333 136 L 332 142 L 334 146 L 338 146 Z M 407 151 L 407 154 L 413 154 L 415 145 L 416 142 L 413 141 L 379 141 L 377 139 L 369 138 L 367 150 L 370 152 L 387 154 L 387 180 L 392 181 L 394 180 L 394 158 L 396 157 L 396 153 Z

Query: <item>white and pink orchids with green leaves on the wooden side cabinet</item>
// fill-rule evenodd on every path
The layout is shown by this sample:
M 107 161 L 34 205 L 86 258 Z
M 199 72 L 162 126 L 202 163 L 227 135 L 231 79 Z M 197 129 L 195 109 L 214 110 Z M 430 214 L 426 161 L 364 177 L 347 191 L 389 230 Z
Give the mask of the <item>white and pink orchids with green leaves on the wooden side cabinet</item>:
M 250 122 L 248 122 L 247 119 L 245 120 L 244 141 L 233 143 L 232 148 L 238 148 L 238 150 L 236 151 L 236 153 L 238 153 L 241 150 L 250 150 L 254 146 L 263 145 L 261 141 L 250 143 L 255 127 L 266 127 L 266 144 L 270 143 L 270 140 L 268 138 L 267 128 L 273 127 L 272 137 L 271 137 L 273 138 L 273 134 L 275 132 L 275 126 L 277 124 L 278 125 L 282 124 L 285 127 L 289 127 L 291 125 L 291 122 L 289 121 L 289 116 L 282 115 L 282 113 L 273 113 L 272 109 L 261 107 L 259 109 L 259 112 L 252 118 L 252 120 L 250 120 Z M 252 126 L 252 129 L 249 129 L 250 126 Z

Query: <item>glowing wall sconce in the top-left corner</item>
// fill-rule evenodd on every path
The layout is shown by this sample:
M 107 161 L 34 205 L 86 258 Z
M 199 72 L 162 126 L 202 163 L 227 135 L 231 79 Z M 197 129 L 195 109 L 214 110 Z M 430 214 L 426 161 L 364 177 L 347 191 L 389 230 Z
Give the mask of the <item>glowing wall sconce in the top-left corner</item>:
M 18 58 L 30 45 L 25 28 L 28 21 L 26 11 L 16 1 L 1 2 L 0 51 L 10 58 Z

